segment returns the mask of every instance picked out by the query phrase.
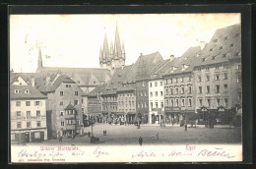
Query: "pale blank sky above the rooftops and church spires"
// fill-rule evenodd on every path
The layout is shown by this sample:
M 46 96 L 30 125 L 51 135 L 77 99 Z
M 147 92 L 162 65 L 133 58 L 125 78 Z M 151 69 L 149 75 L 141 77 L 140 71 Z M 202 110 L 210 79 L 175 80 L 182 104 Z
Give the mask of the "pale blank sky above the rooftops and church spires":
M 99 68 L 104 33 L 109 47 L 116 26 L 130 65 L 141 53 L 181 56 L 235 24 L 240 14 L 11 15 L 10 69 L 35 72 L 38 46 L 45 67 Z

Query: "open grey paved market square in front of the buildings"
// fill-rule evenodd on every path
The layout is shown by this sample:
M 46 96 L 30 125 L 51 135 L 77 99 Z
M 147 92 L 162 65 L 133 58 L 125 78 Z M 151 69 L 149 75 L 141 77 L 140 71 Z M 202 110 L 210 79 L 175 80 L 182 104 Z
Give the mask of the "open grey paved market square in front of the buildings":
M 86 127 L 84 131 L 88 133 L 91 127 Z M 107 131 L 107 136 L 103 136 L 103 130 Z M 157 134 L 159 133 L 159 140 Z M 177 144 L 177 143 L 240 143 L 241 128 L 189 128 L 184 131 L 184 127 L 159 125 L 142 125 L 141 129 L 136 126 L 120 126 L 108 124 L 96 124 L 94 126 L 94 136 L 99 138 L 96 144 L 138 144 L 142 137 L 143 144 Z M 27 144 L 92 144 L 90 138 L 76 137 L 75 139 L 48 140 L 43 142 L 30 142 Z

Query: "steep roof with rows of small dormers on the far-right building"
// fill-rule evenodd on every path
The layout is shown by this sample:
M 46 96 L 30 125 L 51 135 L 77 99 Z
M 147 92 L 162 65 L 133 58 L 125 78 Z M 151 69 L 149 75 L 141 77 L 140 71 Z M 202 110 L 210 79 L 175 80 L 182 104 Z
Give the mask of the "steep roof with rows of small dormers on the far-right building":
M 241 25 L 216 30 L 211 41 L 200 52 L 196 66 L 227 62 L 241 58 Z

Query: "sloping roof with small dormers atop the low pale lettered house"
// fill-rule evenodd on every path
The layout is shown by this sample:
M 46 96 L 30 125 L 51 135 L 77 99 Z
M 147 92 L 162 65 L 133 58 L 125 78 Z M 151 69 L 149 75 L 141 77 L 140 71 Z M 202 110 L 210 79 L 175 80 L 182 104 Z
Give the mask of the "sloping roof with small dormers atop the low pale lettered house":
M 19 90 L 19 93 L 15 93 Z M 28 90 L 28 92 L 26 92 Z M 10 85 L 10 99 L 46 99 L 47 97 L 32 85 Z

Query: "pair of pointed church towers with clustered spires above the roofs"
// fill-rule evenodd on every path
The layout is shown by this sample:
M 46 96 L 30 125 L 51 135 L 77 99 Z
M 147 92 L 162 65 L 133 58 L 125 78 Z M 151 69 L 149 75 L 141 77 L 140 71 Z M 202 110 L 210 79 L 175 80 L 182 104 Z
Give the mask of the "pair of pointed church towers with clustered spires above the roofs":
M 106 34 L 104 35 L 103 48 L 99 51 L 100 68 L 106 68 L 113 72 L 116 68 L 125 66 L 124 44 L 120 42 L 118 28 L 116 26 L 114 44 L 111 42 L 108 48 Z

